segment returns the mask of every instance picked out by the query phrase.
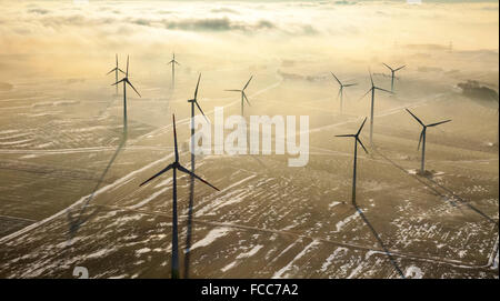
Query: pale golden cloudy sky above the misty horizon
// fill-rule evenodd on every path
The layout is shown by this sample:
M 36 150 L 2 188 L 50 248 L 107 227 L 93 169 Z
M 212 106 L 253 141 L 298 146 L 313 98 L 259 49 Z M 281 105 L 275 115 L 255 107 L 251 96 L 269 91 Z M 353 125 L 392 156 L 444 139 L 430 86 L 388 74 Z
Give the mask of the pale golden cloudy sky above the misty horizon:
M 119 47 L 240 43 L 352 51 L 400 44 L 498 49 L 498 3 L 9 1 L 0 53 L 102 51 Z M 213 46 L 213 44 L 212 44 Z M 243 47 L 241 47 L 243 48 Z

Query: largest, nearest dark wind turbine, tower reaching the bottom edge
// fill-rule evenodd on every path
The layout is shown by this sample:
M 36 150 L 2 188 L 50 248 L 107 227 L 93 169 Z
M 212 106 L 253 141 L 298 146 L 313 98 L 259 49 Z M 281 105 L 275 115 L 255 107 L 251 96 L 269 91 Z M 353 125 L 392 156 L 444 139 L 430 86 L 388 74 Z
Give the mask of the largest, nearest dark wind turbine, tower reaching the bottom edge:
M 189 175 L 200 180 L 201 182 L 206 183 L 207 185 L 213 188 L 214 190 L 219 191 L 218 188 L 216 188 L 214 185 L 210 184 L 209 182 L 207 182 L 206 180 L 201 179 L 200 177 L 198 177 L 197 174 L 194 174 L 193 172 L 189 171 L 187 168 L 182 167 L 179 163 L 179 150 L 177 147 L 177 131 L 176 131 L 176 116 L 172 114 L 172 120 L 173 120 L 173 143 L 174 143 L 174 150 L 176 150 L 176 161 L 173 161 L 173 163 L 169 164 L 168 167 L 166 167 L 164 169 L 160 170 L 157 174 L 154 174 L 153 177 L 149 178 L 148 180 L 146 180 L 144 182 L 142 182 L 140 184 L 143 185 L 148 182 L 150 182 L 151 180 L 156 179 L 157 177 L 161 175 L 162 173 L 172 170 L 173 172 L 173 189 L 172 189 L 172 279 L 177 279 L 179 278 L 179 247 L 178 247 L 178 222 L 177 222 L 177 171 L 182 171 L 184 173 L 188 173 Z

